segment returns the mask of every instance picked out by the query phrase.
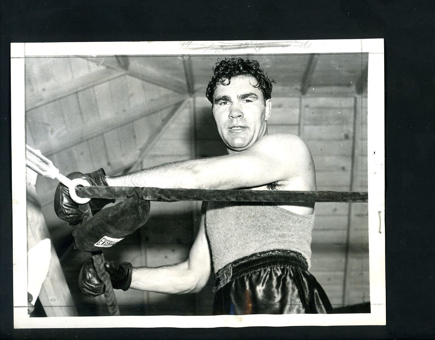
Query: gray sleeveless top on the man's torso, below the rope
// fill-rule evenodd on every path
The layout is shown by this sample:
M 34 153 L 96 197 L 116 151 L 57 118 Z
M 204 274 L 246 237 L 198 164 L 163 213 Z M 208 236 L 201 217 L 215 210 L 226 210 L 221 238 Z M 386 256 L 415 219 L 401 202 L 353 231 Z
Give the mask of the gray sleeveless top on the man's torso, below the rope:
M 205 229 L 214 272 L 241 257 L 266 250 L 301 253 L 311 265 L 314 214 L 299 215 L 268 203 L 208 202 Z

